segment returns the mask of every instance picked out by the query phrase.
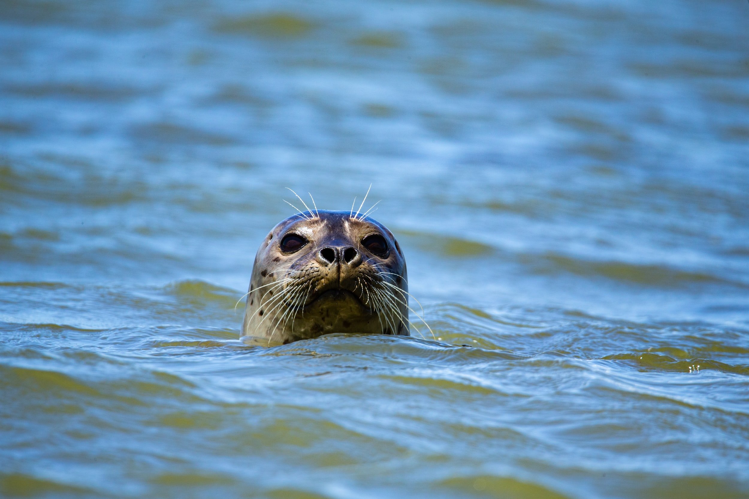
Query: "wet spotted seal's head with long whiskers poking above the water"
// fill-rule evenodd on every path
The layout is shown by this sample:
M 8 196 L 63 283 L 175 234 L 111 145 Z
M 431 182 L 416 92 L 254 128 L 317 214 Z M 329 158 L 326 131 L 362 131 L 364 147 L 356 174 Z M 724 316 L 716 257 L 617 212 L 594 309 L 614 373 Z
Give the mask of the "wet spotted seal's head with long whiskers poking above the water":
M 304 212 L 273 227 L 258 249 L 243 338 L 407 335 L 407 292 L 401 248 L 383 225 L 350 212 Z

